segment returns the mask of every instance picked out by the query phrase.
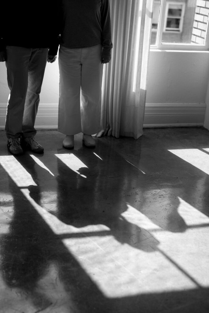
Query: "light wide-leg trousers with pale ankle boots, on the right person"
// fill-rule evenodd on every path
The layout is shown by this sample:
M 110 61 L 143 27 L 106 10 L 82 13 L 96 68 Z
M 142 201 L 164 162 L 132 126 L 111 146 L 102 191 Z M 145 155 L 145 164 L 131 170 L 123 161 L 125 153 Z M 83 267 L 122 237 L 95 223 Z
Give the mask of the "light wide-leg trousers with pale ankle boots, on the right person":
M 58 131 L 67 135 L 64 139 L 71 141 L 73 136 L 82 132 L 86 145 L 92 143 L 91 135 L 100 130 L 101 119 L 101 64 L 102 46 L 69 49 L 60 46 L 60 96 Z

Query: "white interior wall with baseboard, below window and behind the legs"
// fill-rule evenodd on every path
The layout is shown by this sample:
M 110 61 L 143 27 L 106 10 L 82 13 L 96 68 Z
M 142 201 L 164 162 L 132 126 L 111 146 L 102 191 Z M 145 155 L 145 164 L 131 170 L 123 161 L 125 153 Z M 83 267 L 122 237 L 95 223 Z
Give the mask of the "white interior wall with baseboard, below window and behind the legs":
M 209 106 L 208 81 L 209 52 L 151 50 L 144 127 L 202 126 Z M 0 129 L 4 129 L 8 94 L 5 63 L 0 63 Z M 46 65 L 37 129 L 57 128 L 58 99 L 57 59 Z M 204 126 L 209 126 L 207 110 Z

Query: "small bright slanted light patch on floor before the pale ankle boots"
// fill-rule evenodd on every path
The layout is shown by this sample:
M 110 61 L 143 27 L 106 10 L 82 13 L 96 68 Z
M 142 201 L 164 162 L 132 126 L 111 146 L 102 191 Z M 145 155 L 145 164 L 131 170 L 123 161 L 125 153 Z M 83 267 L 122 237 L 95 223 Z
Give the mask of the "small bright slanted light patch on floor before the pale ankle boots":
M 67 167 L 72 171 L 79 174 L 81 177 L 86 178 L 85 175 L 79 172 L 80 168 L 88 168 L 77 156 L 71 154 L 55 154 Z

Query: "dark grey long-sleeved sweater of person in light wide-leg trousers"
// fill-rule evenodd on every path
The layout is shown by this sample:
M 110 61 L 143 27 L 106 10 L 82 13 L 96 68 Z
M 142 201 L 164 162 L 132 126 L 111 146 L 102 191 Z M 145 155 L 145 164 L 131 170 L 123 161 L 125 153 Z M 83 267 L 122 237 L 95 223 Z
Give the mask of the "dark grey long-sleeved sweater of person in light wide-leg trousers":
M 61 45 L 85 48 L 102 44 L 104 53 L 111 55 L 108 0 L 59 0 L 59 5 Z

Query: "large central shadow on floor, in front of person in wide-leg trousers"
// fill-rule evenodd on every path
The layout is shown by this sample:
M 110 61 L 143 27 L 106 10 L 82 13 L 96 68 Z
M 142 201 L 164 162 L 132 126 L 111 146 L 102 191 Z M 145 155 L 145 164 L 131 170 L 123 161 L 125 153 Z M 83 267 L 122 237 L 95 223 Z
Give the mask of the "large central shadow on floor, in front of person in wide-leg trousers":
M 123 186 L 128 180 L 123 173 L 123 159 L 118 162 L 115 158 L 111 162 L 108 158 L 107 160 L 103 158 L 103 162 L 98 164 L 99 159 L 94 158 L 92 161 L 88 154 L 79 155 L 78 151 L 77 156 L 86 164 L 86 167 L 78 168 L 77 172 L 73 172 L 63 162 L 57 160 L 59 173 L 57 218 L 76 228 L 104 225 L 109 231 L 103 234 L 114 236 L 119 243 L 146 252 L 155 251 L 159 244 L 158 240 L 144 228 L 130 223 L 122 215 L 128 209 L 122 199 Z M 113 176 L 108 168 L 114 171 Z M 97 232 L 94 234 L 97 235 Z M 88 236 L 88 233 L 85 232 L 85 236 Z

